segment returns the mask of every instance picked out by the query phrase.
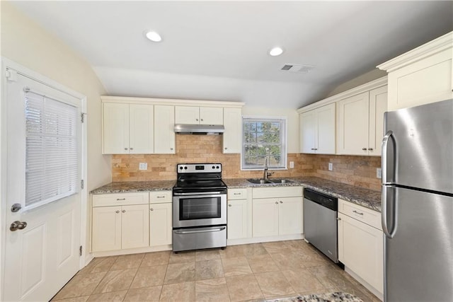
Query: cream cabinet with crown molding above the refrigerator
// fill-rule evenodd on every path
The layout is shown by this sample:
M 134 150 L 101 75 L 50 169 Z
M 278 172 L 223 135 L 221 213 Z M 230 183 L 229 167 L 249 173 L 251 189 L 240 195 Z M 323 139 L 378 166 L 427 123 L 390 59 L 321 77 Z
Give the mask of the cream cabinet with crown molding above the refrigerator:
M 453 32 L 380 64 L 389 73 L 389 110 L 453 98 Z

